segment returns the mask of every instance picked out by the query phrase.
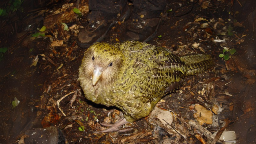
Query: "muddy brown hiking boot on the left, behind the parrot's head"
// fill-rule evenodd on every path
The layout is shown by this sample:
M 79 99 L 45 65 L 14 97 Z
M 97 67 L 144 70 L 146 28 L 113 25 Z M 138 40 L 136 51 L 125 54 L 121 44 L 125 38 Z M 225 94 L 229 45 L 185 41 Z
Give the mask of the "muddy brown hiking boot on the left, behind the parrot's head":
M 81 48 L 88 48 L 95 42 L 100 42 L 104 39 L 109 29 L 118 21 L 129 17 L 131 12 L 130 6 L 125 6 L 122 14 L 118 14 L 116 18 L 106 20 L 99 11 L 92 11 L 88 16 L 89 24 L 82 29 L 77 38 L 77 45 Z

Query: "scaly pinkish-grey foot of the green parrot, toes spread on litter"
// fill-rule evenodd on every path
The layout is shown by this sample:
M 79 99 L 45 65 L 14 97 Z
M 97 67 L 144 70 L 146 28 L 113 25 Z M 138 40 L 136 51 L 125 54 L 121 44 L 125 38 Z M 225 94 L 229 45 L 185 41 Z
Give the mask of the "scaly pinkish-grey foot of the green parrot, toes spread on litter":
M 103 133 L 103 132 L 113 132 L 113 131 L 116 131 L 116 132 L 126 132 L 126 131 L 130 131 L 132 130 L 133 128 L 127 128 L 127 129 L 120 129 L 120 127 L 122 125 L 125 125 L 125 124 L 128 124 L 129 122 L 126 121 L 126 119 L 123 117 L 123 118 L 120 118 L 118 121 L 116 121 L 114 124 L 106 124 L 106 123 L 100 123 L 102 126 L 105 126 L 105 127 L 110 127 L 110 128 L 107 128 L 105 130 L 102 130 L 102 131 L 94 131 L 94 133 Z

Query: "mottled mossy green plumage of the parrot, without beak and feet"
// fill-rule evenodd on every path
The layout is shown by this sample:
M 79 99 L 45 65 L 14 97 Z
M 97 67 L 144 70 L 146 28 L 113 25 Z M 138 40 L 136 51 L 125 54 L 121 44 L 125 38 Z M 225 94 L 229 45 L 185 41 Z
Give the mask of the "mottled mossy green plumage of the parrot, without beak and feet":
M 178 57 L 170 50 L 142 42 L 95 43 L 85 53 L 79 81 L 87 99 L 120 108 L 128 122 L 146 117 L 182 78 L 213 65 L 211 56 Z M 92 85 L 95 67 L 102 68 Z

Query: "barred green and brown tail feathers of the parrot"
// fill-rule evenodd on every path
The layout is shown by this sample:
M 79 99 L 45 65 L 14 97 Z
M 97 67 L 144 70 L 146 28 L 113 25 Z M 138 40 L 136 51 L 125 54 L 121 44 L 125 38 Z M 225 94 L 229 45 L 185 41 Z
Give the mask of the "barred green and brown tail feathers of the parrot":
M 214 65 L 214 61 L 210 55 L 196 54 L 183 56 L 180 59 L 187 65 L 187 76 L 200 74 Z

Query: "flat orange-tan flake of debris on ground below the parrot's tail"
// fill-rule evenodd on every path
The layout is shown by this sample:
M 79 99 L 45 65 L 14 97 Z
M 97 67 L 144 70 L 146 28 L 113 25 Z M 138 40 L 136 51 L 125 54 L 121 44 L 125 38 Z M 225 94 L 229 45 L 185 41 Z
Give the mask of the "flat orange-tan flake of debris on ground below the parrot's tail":
M 210 110 L 207 110 L 205 107 L 196 104 L 195 105 L 196 113 L 194 114 L 194 117 L 197 119 L 200 125 L 204 124 L 212 124 L 212 112 Z

